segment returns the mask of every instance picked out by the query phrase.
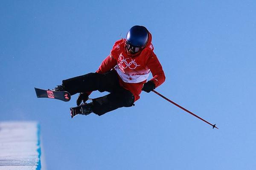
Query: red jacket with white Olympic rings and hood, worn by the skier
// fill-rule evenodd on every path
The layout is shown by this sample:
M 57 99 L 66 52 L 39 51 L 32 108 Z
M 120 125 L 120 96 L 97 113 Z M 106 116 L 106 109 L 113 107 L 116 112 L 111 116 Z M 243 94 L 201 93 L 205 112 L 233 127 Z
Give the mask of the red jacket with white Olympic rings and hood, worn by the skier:
M 140 99 L 141 89 L 146 82 L 151 71 L 154 82 L 157 88 L 165 81 L 165 75 L 162 65 L 154 54 L 154 47 L 151 44 L 152 36 L 148 32 L 148 42 L 145 48 L 138 54 L 130 54 L 125 49 L 126 39 L 121 39 L 115 42 L 110 55 L 105 58 L 99 66 L 97 73 L 103 74 L 115 69 L 119 75 L 120 85 L 131 91 L 135 97 L 135 101 Z

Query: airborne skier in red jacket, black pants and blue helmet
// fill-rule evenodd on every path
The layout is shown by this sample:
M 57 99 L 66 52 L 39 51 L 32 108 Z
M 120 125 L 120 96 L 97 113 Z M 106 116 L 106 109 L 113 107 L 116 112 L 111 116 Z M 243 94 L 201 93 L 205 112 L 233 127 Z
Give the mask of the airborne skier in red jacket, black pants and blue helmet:
M 76 104 L 79 114 L 95 113 L 99 116 L 117 108 L 131 107 L 140 98 L 141 91 L 149 93 L 165 81 L 165 75 L 154 47 L 151 34 L 144 26 L 133 26 L 126 39 L 115 42 L 113 48 L 96 73 L 89 73 L 62 81 L 54 91 L 80 93 Z M 149 73 L 153 78 L 147 81 Z M 110 94 L 86 103 L 92 91 Z

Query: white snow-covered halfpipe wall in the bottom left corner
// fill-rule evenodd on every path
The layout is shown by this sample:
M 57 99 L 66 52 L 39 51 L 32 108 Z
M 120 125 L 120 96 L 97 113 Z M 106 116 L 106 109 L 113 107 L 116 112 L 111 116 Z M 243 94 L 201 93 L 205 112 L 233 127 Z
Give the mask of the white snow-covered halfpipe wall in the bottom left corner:
M 41 170 L 36 122 L 0 122 L 0 170 Z

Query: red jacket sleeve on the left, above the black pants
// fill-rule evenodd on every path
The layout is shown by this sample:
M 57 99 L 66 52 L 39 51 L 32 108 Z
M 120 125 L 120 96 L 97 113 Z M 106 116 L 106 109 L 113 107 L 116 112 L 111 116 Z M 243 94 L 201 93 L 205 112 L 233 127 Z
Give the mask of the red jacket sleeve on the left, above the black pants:
M 99 73 L 99 74 L 106 73 L 108 71 L 111 71 L 111 69 L 114 68 L 116 65 L 117 65 L 116 59 L 114 59 L 110 54 L 107 58 L 105 58 L 102 61 L 96 73 Z

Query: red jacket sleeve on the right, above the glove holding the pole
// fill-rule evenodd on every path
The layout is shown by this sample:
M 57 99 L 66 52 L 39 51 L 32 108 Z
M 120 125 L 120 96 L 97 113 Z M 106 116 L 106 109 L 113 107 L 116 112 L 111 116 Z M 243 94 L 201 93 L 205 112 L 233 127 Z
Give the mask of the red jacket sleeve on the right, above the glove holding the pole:
M 157 88 L 158 86 L 163 84 L 166 77 L 164 75 L 162 65 L 160 64 L 155 54 L 152 54 L 151 57 L 149 57 L 147 66 L 153 75 L 153 78 L 150 81 L 154 82 Z

